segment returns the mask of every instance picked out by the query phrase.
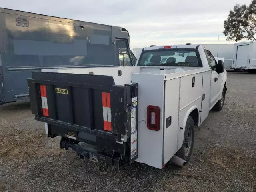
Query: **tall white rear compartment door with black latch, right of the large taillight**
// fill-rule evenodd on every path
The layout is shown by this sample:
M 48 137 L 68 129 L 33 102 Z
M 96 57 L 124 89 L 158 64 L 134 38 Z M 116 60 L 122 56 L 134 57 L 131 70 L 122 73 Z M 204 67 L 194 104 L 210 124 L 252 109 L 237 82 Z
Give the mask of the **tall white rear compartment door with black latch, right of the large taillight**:
M 178 150 L 178 112 L 180 78 L 165 82 L 164 97 L 164 165 Z M 166 119 L 172 117 L 171 125 L 166 128 Z

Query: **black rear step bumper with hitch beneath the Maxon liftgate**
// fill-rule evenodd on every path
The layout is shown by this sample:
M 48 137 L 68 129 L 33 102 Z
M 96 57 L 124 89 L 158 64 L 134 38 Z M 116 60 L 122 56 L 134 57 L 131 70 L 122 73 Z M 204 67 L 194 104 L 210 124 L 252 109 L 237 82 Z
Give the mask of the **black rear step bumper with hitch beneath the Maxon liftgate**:
M 125 160 L 122 154 L 117 152 L 103 152 L 92 147 L 78 144 L 76 140 L 62 137 L 60 140 L 60 148 L 66 150 L 72 149 L 81 159 L 90 160 L 93 162 L 102 161 L 111 165 L 120 167 L 124 164 Z

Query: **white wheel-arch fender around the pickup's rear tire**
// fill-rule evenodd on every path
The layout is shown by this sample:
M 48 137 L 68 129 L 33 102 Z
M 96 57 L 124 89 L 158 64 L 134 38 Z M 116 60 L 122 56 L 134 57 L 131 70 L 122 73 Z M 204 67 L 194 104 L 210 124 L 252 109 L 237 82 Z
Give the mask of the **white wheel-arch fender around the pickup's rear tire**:
M 190 107 L 190 108 L 188 109 L 188 111 L 187 111 L 186 114 L 184 115 L 184 118 L 180 121 L 181 123 L 180 123 L 180 125 L 179 125 L 179 127 L 178 127 L 178 149 L 180 149 L 181 146 L 182 146 L 182 144 L 183 144 L 184 133 L 185 133 L 185 127 L 186 127 L 186 122 L 187 122 L 187 120 L 188 120 L 188 116 L 189 116 L 190 113 L 191 113 L 193 110 L 195 110 L 195 109 L 197 109 L 197 111 L 198 111 L 198 121 L 197 121 L 198 124 L 197 124 L 197 126 L 200 125 L 200 121 L 199 121 L 199 110 L 198 110 L 198 107 L 197 107 L 196 105 L 194 105 L 194 106 L 192 106 L 192 107 Z M 182 127 L 183 129 L 180 129 L 180 127 Z

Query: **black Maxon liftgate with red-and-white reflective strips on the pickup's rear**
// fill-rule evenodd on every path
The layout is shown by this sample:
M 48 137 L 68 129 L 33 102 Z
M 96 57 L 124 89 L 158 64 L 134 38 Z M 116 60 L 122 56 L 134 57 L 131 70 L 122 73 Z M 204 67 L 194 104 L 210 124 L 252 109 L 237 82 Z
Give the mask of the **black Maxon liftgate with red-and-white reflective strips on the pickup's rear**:
M 48 137 L 82 159 L 120 166 L 137 158 L 138 84 L 115 85 L 112 76 L 32 72 L 35 119 Z M 136 99 L 136 102 L 134 100 Z

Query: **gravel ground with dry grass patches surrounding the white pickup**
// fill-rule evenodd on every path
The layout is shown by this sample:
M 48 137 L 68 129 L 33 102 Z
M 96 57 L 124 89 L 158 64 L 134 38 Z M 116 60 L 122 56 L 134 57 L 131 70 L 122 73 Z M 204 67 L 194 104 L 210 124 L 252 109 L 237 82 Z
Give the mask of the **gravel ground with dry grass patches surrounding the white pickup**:
M 0 106 L 0 192 L 256 191 L 256 74 L 228 72 L 220 112 L 196 130 L 184 168 L 133 163 L 119 169 L 80 160 L 47 138 L 28 102 Z

